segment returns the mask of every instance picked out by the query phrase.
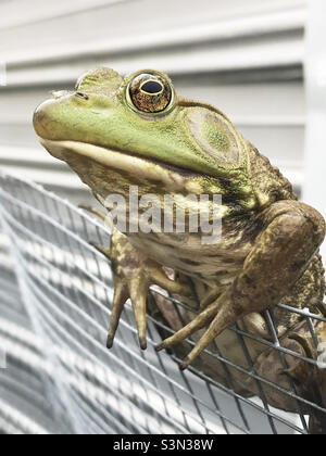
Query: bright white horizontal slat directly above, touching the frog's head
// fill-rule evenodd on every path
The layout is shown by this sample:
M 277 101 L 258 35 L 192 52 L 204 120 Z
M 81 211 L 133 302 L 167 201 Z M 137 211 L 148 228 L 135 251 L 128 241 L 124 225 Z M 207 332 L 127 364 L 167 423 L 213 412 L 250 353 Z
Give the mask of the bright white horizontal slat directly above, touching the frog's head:
M 33 86 L 41 84 L 59 84 L 73 81 L 79 74 L 93 66 L 112 66 L 121 74 L 133 73 L 135 68 L 159 68 L 171 75 L 216 73 L 242 71 L 248 67 L 287 67 L 300 65 L 303 62 L 304 47 L 301 38 L 289 38 L 279 43 L 253 41 L 247 45 L 235 43 L 227 49 L 216 47 L 193 50 L 172 49 L 165 52 L 149 52 L 116 56 L 78 60 L 75 62 L 60 62 L 51 64 L 45 62 L 41 68 L 20 67 L 8 69 L 7 84 L 9 87 Z

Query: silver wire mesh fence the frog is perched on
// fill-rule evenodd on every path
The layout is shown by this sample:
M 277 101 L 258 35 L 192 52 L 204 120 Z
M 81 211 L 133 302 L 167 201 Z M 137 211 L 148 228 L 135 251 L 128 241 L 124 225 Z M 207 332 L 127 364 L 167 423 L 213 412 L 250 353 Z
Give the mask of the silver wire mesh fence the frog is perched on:
M 237 364 L 215 344 L 202 364 L 179 369 L 180 352 L 156 353 L 173 331 L 160 300 L 183 322 L 193 306 L 150 293 L 148 350 L 138 346 L 127 305 L 114 347 L 105 349 L 113 296 L 110 262 L 90 243 L 110 244 L 108 229 L 82 210 L 39 186 L 0 174 L 1 250 L 0 428 L 16 433 L 308 433 L 306 407 L 326 413 L 256 371 L 248 341 L 287 356 L 313 359 L 281 345 L 267 312 L 271 339 L 231 328 L 246 363 Z M 14 274 L 13 274 L 14 270 Z M 158 304 L 159 303 L 159 304 Z M 314 334 L 319 315 L 300 314 Z M 171 312 L 172 312 L 171 311 Z M 164 316 L 163 316 L 164 317 Z M 193 341 L 189 341 L 193 344 Z M 316 341 L 317 343 L 317 341 Z M 210 366 L 206 368 L 205 366 Z M 214 376 L 214 366 L 225 381 Z M 256 394 L 239 390 L 237 375 L 250 378 Z M 266 388 L 296 404 L 296 413 L 268 405 Z

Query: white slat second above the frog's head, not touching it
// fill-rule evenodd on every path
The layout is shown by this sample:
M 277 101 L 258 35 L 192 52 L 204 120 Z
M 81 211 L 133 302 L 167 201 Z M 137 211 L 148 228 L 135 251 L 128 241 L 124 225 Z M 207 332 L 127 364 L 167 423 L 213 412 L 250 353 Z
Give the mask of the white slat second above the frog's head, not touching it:
M 146 2 L 142 2 L 146 3 Z M 171 3 L 171 1 L 170 1 Z M 141 9 L 140 9 L 141 11 Z M 212 10 L 216 12 L 216 9 Z M 78 12 L 75 12 L 77 15 Z M 139 14 L 139 11 L 138 11 Z M 142 21 L 145 18 L 142 17 Z M 152 20 L 152 17 L 151 17 Z M 63 60 L 85 60 L 87 56 L 95 58 L 103 54 L 120 55 L 121 53 L 141 53 L 156 49 L 168 49 L 178 47 L 189 47 L 200 45 L 212 45 L 218 43 L 220 41 L 236 40 L 239 38 L 256 38 L 260 35 L 276 35 L 276 34 L 293 34 L 298 33 L 298 37 L 302 38 L 302 31 L 305 22 L 305 10 L 286 10 L 276 11 L 269 13 L 263 13 L 258 15 L 244 15 L 235 18 L 221 20 L 221 16 L 213 21 L 213 17 L 209 22 L 203 24 L 184 25 L 178 27 L 166 27 L 159 26 L 159 30 L 149 30 L 149 27 L 143 27 L 137 30 L 137 35 L 130 34 L 126 30 L 125 34 L 115 34 L 114 28 L 105 29 L 105 35 L 100 38 L 99 34 L 96 37 L 96 41 L 88 42 L 85 40 L 80 41 L 68 41 L 64 43 L 64 47 L 58 46 L 52 48 L 45 48 L 36 51 L 30 49 L 27 52 L 22 52 L 21 49 L 12 50 L 11 53 L 3 50 L 3 60 L 9 65 L 28 64 L 37 61 L 55 62 Z M 122 24 L 120 24 L 121 26 Z M 100 24 L 99 24 L 100 26 Z M 171 27 L 171 25 L 168 24 Z M 163 28 L 160 30 L 160 28 Z M 77 29 L 80 34 L 82 30 Z M 0 29 L 1 34 L 1 29 Z M 281 37 L 286 39 L 287 37 Z M 5 56 L 8 55 L 8 56 Z

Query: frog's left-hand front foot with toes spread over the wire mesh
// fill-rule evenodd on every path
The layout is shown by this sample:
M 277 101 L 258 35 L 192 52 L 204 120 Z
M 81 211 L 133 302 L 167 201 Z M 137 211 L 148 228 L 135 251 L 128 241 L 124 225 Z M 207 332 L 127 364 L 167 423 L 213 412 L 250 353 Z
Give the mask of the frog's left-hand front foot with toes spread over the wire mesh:
M 114 231 L 111 237 L 111 248 L 95 245 L 97 250 L 111 259 L 115 277 L 113 307 L 111 313 L 108 349 L 113 345 L 120 318 L 128 299 L 135 314 L 139 345 L 147 347 L 146 341 L 146 304 L 149 288 L 153 284 L 170 293 L 191 295 L 188 286 L 168 279 L 162 267 L 136 250 L 125 235 Z

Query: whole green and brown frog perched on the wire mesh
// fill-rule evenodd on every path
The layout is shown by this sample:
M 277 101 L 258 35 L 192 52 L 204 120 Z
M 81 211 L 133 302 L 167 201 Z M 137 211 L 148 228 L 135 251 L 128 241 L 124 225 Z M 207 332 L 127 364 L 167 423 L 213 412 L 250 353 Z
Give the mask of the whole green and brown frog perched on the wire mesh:
M 188 353 L 183 368 L 193 363 L 239 394 L 263 395 L 272 406 L 310 414 L 311 432 L 325 432 L 326 373 L 312 359 L 318 356 L 313 334 L 325 343 L 326 326 L 321 318 L 312 320 L 311 328 L 300 314 L 308 308 L 325 315 L 318 255 L 325 221 L 298 201 L 280 172 L 218 109 L 179 97 L 171 79 L 156 71 L 125 79 L 109 68 L 89 72 L 75 90 L 53 92 L 36 110 L 34 126 L 43 147 L 66 162 L 99 202 L 112 193 L 124 197 L 127 218 L 131 186 L 139 199 L 158 197 L 162 207 L 166 194 L 176 197 L 179 205 L 180 195 L 222 195 L 216 243 L 203 243 L 202 232 L 192 232 L 187 217 L 185 232 L 115 229 L 111 248 L 99 246 L 115 273 L 108 346 L 130 297 L 142 349 L 148 311 L 176 331 L 158 350 L 168 349 L 179 357 Z M 188 215 L 192 211 L 184 208 Z M 197 313 L 187 306 L 176 312 L 164 297 L 153 303 L 148 300 L 151 286 L 192 307 L 196 294 L 200 307 Z M 242 331 L 252 337 L 241 344 Z M 273 347 L 277 340 L 287 349 L 283 353 Z M 223 365 L 218 356 L 231 363 Z M 267 381 L 259 388 L 246 370 Z M 293 388 L 297 394 L 286 394 Z

